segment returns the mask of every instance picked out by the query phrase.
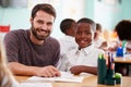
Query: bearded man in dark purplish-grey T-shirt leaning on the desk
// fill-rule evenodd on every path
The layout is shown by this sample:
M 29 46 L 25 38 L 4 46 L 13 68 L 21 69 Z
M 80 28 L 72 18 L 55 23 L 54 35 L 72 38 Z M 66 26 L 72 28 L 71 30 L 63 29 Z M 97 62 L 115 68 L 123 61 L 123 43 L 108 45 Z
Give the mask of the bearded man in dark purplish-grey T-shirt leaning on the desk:
M 56 18 L 55 9 L 47 3 L 34 7 L 31 29 L 17 29 L 4 37 L 9 67 L 15 75 L 60 76 L 56 69 L 59 42 L 50 37 Z

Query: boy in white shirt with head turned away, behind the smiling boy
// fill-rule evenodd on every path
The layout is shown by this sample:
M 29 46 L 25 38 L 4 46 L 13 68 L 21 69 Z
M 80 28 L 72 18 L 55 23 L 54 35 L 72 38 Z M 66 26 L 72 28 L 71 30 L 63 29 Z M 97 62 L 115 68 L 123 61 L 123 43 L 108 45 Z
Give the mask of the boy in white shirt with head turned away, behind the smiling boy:
M 60 30 L 64 34 L 62 38 L 58 39 L 60 42 L 61 58 L 67 51 L 76 48 L 74 40 L 75 25 L 76 22 L 72 18 L 64 18 L 60 23 Z

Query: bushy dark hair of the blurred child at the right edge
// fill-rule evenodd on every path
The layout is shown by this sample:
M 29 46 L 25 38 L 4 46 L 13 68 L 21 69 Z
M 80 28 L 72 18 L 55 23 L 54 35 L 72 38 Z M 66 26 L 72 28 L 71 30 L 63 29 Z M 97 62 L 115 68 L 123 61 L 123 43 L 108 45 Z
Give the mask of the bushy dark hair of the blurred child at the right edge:
M 116 25 L 115 32 L 117 32 L 120 40 L 131 40 L 131 21 L 128 20 L 120 21 Z

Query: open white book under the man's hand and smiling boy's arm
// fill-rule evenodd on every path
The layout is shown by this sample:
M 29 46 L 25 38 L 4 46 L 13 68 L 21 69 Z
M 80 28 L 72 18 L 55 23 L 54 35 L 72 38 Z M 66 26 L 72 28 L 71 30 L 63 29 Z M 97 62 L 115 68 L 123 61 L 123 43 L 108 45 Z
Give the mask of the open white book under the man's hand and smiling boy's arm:
M 61 72 L 60 77 L 38 77 L 32 76 L 26 82 L 66 82 L 66 83 L 82 83 L 84 79 L 83 76 L 74 76 L 73 74 Z

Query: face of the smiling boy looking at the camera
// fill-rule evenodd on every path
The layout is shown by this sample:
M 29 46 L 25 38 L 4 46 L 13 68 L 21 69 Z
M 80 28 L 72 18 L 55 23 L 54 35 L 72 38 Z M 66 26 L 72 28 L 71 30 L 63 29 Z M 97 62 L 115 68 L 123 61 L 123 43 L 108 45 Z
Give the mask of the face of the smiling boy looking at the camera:
M 94 32 L 88 23 L 79 23 L 76 25 L 75 41 L 80 48 L 85 48 L 92 44 Z

